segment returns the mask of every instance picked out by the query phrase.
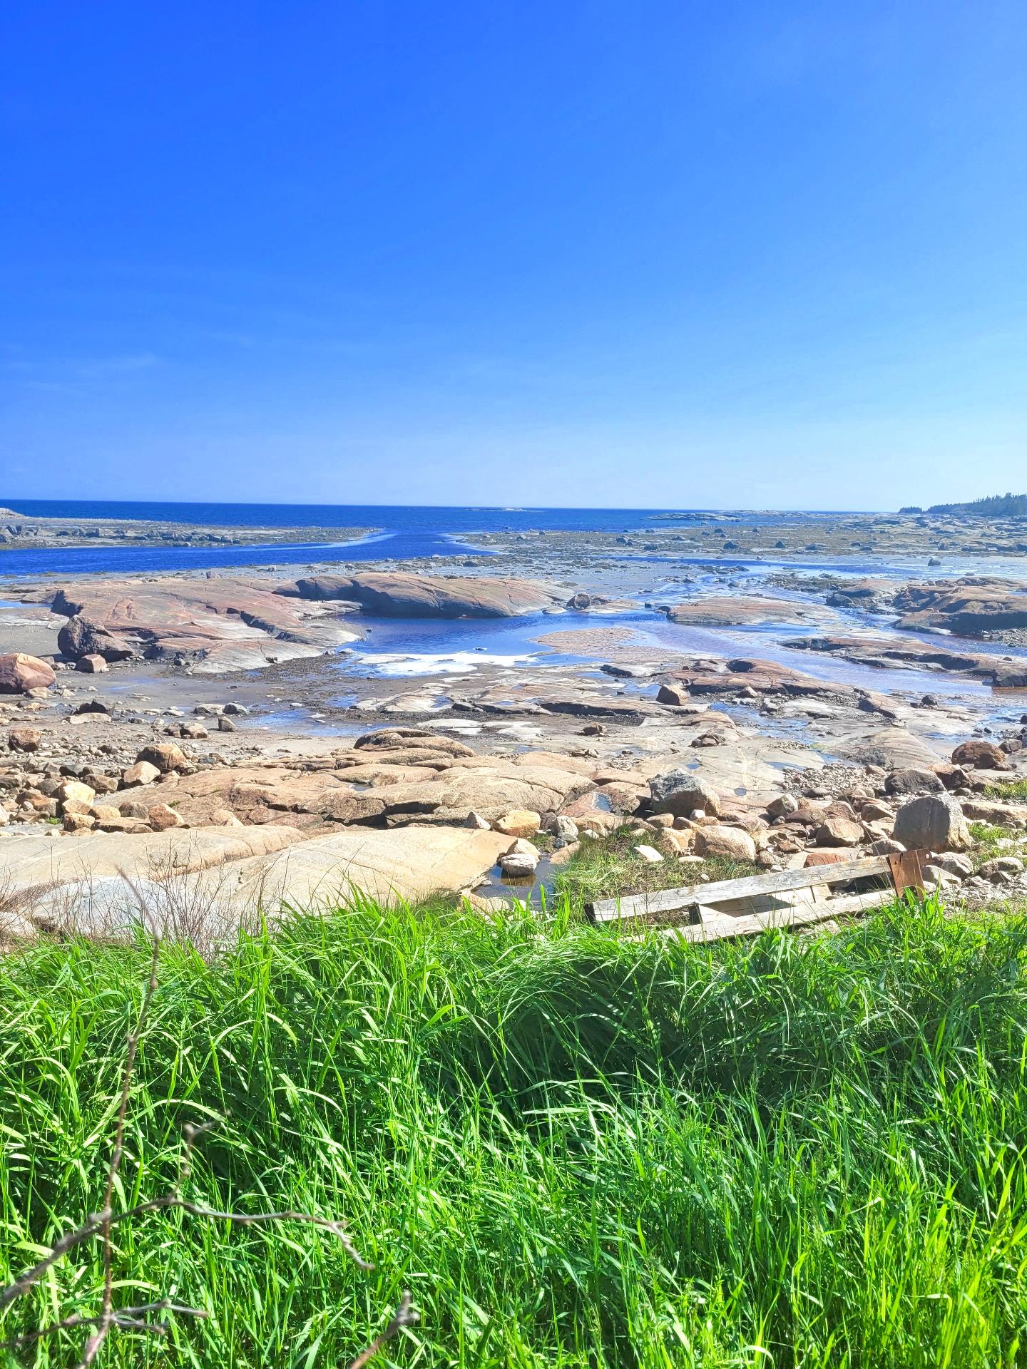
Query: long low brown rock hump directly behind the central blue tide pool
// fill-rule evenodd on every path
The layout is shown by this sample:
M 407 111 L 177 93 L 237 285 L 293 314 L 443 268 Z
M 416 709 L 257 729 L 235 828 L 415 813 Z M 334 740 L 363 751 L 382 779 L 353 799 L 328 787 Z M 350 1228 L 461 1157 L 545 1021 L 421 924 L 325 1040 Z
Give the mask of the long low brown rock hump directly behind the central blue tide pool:
M 315 575 L 283 586 L 282 596 L 338 600 L 378 617 L 516 617 L 561 601 L 533 580 L 449 575 Z

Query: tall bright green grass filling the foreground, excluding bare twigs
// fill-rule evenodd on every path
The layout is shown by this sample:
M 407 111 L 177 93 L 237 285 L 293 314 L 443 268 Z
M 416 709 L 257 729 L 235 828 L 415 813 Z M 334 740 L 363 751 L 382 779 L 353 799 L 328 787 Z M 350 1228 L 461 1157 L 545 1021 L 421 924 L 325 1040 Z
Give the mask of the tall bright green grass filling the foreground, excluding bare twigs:
M 0 967 L 0 1283 L 103 1202 L 145 947 Z M 642 943 L 355 908 L 214 964 L 160 954 L 125 1202 L 345 1220 L 119 1228 L 118 1301 L 210 1310 L 103 1364 L 1027 1362 L 1027 923 L 894 908 L 835 936 Z M 99 1309 L 93 1240 L 0 1335 Z M 82 1335 L 18 1351 L 75 1364 Z M 1 1353 L 0 1353 L 1 1358 Z

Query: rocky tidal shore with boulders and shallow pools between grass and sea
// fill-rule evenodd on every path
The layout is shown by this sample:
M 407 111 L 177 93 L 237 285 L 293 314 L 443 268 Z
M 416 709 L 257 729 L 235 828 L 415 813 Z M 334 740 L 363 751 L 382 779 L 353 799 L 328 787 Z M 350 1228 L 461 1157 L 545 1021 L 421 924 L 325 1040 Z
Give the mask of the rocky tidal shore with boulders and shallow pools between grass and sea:
M 781 869 L 917 845 L 967 897 L 1019 887 L 1023 658 L 956 634 L 985 641 L 989 615 L 1020 612 L 1020 582 L 890 579 L 870 608 L 863 585 L 753 591 L 718 567 L 646 597 L 650 570 L 586 578 L 576 553 L 508 552 L 487 563 L 503 575 L 466 561 L 22 586 L 0 615 L 8 930 L 111 930 L 134 916 L 126 890 L 167 912 L 182 880 L 222 927 L 330 886 L 524 895 L 626 826 L 682 880 L 711 858 Z M 429 667 L 415 650 L 397 676 L 374 654 L 385 624 L 520 631 L 527 652 Z M 767 631 L 776 656 L 739 649 Z M 978 860 L 968 823 L 1009 850 Z

